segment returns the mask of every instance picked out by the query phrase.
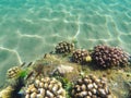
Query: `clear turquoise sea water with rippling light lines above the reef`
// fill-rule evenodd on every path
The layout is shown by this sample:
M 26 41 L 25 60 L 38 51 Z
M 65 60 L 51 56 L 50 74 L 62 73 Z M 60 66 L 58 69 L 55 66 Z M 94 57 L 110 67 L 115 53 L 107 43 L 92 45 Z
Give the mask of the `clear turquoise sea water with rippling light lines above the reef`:
M 72 39 L 131 53 L 131 0 L 0 0 L 0 86 L 11 66 Z

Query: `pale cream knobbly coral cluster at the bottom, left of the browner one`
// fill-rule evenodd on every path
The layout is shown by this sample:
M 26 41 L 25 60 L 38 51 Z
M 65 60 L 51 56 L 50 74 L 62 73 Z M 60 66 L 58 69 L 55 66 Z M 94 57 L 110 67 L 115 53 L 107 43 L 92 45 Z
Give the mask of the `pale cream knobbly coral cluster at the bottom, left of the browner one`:
M 40 78 L 27 85 L 25 98 L 66 98 L 66 90 L 56 78 Z

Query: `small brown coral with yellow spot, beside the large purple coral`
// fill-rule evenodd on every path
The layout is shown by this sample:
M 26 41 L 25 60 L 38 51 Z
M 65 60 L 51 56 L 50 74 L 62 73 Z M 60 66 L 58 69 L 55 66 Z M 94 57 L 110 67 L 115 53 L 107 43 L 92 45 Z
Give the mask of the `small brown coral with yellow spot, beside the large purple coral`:
M 78 50 L 73 51 L 73 54 L 72 54 L 73 62 L 83 64 L 83 63 L 91 61 L 91 60 L 92 59 L 91 59 L 87 50 L 78 49 Z

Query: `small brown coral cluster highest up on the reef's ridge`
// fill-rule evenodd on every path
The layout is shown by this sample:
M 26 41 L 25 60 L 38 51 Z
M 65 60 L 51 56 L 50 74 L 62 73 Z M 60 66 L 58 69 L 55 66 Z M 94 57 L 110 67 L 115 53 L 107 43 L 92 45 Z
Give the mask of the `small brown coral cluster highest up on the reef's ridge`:
M 70 52 L 73 51 L 73 49 L 74 49 L 74 45 L 73 44 L 69 44 L 67 41 L 59 42 L 56 46 L 56 52 L 57 53 L 70 53 Z

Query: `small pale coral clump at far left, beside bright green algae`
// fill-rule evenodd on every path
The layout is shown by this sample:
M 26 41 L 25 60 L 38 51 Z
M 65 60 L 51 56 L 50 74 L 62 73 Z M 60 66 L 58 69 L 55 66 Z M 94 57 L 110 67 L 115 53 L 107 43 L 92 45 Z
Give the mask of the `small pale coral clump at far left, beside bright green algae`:
M 9 78 L 13 78 L 13 77 L 16 77 L 20 72 L 21 72 L 20 66 L 13 66 L 8 70 L 7 75 Z

